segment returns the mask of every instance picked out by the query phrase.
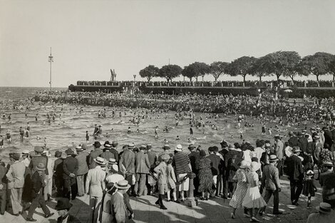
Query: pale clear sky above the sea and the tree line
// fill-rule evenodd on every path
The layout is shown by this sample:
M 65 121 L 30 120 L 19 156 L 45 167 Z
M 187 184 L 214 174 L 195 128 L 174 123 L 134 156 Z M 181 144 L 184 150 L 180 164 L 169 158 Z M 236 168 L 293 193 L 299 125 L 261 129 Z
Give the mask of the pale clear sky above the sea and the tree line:
M 118 81 L 144 81 L 141 69 L 169 60 L 335 54 L 334 9 L 334 0 L 0 0 L 0 86 L 48 87 L 51 47 L 55 87 L 109 81 L 110 68 Z

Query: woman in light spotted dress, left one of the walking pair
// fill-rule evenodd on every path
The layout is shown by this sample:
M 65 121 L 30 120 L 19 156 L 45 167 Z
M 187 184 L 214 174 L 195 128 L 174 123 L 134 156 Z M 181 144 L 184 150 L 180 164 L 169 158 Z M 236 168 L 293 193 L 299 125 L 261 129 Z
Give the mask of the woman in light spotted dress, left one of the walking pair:
M 230 217 L 232 217 L 232 219 L 235 218 L 236 209 L 242 207 L 242 201 L 244 199 L 245 194 L 247 193 L 248 172 L 249 172 L 249 162 L 247 162 L 246 160 L 242 160 L 241 165 L 239 166 L 239 170 L 237 170 L 233 178 L 233 180 L 237 180 L 237 187 L 234 192 L 234 195 L 232 195 L 232 199 L 230 200 L 230 207 L 232 207 L 232 213 L 230 213 Z

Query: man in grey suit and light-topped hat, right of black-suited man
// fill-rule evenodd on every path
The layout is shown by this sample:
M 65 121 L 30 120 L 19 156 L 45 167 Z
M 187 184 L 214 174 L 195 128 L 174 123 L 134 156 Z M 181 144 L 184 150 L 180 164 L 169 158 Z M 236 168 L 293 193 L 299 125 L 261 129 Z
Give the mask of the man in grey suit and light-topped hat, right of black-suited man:
M 81 146 L 76 147 L 76 160 L 78 161 L 78 171 L 77 171 L 77 185 L 78 185 L 78 196 L 82 197 L 85 195 L 85 188 L 84 188 L 84 177 L 88 172 L 87 166 L 87 153 L 83 152 L 83 148 Z

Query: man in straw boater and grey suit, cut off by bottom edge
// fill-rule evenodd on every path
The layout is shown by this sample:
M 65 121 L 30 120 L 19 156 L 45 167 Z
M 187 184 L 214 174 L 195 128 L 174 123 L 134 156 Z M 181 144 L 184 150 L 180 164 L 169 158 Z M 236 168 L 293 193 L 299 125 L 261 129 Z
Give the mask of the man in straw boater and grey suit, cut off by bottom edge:
M 124 195 L 129 189 L 127 180 L 120 180 L 115 184 L 115 187 L 118 188 L 118 191 L 112 195 L 110 199 L 110 212 L 112 215 L 113 223 L 124 223 L 125 219 L 128 217 L 128 210 L 125 205 Z

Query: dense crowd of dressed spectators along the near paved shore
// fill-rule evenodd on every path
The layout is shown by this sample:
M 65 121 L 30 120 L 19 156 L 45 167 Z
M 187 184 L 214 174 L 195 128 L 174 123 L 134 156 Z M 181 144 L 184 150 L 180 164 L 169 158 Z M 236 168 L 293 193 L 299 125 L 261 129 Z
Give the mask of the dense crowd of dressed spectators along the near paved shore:
M 299 204 L 302 193 L 308 198 L 306 207 L 311 208 L 314 180 L 320 182 L 323 202 L 307 222 L 334 217 L 335 125 L 311 128 L 310 133 L 289 132 L 287 142 L 275 135 L 273 142 L 256 140 L 255 146 L 251 142 L 229 145 L 225 140 L 220 145 L 220 149 L 212 146 L 205 151 L 192 143 L 187 149 L 165 144 L 156 154 L 149 144 L 118 148 L 116 141 L 103 145 L 96 141 L 91 151 L 82 144 L 76 151 L 68 147 L 65 155 L 61 151 L 51 154 L 41 146 L 13 152 L 10 162 L 0 165 L 0 214 L 10 210 L 19 216 L 28 210 L 26 220 L 35 222 L 33 214 L 40 205 L 45 217 L 51 217 L 46 202 L 53 196 L 58 202 L 58 222 L 79 222 L 69 214 L 71 200 L 87 194 L 90 222 L 125 222 L 135 217 L 130 197 L 156 196 L 155 204 L 167 209 L 165 202 L 185 202 L 194 192 L 203 200 L 230 199 L 232 219 L 236 209 L 243 207 L 250 222 L 260 222 L 259 215 L 272 196 L 272 214 L 282 214 L 279 177 L 285 174 L 292 205 Z

